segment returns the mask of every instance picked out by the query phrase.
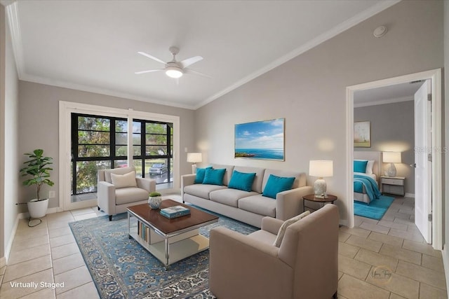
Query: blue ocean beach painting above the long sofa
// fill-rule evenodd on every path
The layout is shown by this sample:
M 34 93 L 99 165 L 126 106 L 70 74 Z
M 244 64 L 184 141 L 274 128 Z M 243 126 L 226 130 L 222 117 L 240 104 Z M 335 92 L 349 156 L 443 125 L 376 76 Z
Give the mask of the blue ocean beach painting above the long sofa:
M 285 118 L 235 125 L 235 158 L 285 160 Z

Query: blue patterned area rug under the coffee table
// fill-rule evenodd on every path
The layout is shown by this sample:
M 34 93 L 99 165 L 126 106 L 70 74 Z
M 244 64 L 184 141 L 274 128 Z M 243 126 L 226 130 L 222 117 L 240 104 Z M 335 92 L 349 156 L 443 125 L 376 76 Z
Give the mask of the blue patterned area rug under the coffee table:
M 200 229 L 226 226 L 248 235 L 258 230 L 225 216 Z M 101 298 L 214 298 L 208 288 L 209 251 L 170 265 L 165 270 L 148 251 L 128 238 L 127 214 L 69 223 Z

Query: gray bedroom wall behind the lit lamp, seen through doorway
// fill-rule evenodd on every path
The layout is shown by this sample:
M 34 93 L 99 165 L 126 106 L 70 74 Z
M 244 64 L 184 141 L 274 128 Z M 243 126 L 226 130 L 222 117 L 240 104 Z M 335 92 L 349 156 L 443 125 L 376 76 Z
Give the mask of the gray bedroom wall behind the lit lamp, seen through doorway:
M 414 102 L 399 102 L 354 109 L 354 121 L 371 122 L 371 147 L 354 151 L 400 151 L 402 163 L 396 163 L 397 176 L 406 177 L 406 193 L 415 193 L 415 114 Z M 389 163 L 384 163 L 387 170 Z M 384 172 L 382 172 L 383 175 Z

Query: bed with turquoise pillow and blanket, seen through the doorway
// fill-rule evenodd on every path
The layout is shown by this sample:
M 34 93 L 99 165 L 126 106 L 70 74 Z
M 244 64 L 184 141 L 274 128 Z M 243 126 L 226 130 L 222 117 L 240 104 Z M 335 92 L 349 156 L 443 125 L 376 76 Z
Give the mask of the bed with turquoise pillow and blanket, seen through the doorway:
M 381 175 L 380 157 L 380 151 L 354 151 L 354 200 L 369 204 L 380 195 L 378 187 Z M 360 167 L 365 160 L 368 162 L 363 172 Z

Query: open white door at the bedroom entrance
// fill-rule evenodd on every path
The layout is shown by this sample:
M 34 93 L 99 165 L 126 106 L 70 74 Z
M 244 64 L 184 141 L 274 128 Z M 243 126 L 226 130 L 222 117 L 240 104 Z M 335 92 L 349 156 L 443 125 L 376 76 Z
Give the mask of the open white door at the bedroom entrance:
M 429 244 L 432 242 L 430 84 L 427 80 L 415 93 L 415 224 Z

